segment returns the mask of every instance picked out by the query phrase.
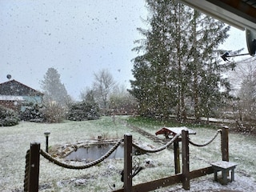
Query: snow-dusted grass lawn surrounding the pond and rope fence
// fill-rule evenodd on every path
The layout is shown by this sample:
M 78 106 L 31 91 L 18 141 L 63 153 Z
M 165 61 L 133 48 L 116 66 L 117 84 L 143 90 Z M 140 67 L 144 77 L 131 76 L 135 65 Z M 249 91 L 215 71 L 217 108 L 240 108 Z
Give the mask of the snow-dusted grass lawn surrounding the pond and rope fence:
M 146 128 L 154 134 L 161 126 Z M 190 136 L 196 143 L 210 140 L 216 133 L 214 129 L 194 128 L 196 135 Z M 122 138 L 130 133 L 137 142 L 149 143 L 155 147 L 162 144 L 154 143 L 143 135 L 130 130 L 122 122 L 111 118 L 102 118 L 89 122 L 63 122 L 58 124 L 43 124 L 21 122 L 18 126 L 0 127 L 0 191 L 22 191 L 25 171 L 26 150 L 30 142 L 40 142 L 45 149 L 44 132 L 50 131 L 49 145 L 65 145 L 67 143 L 83 142 L 98 138 Z M 162 136 L 158 136 L 162 137 Z M 214 175 L 210 174 L 190 182 L 190 191 L 256 191 L 256 140 L 254 136 L 230 133 L 230 161 L 237 162 L 235 181 L 227 186 L 214 182 Z M 150 180 L 174 175 L 173 150 L 163 150 L 156 154 L 137 156 L 140 165 L 144 166 L 133 184 L 150 182 Z M 210 162 L 221 160 L 220 136 L 205 147 L 190 146 L 190 170 L 210 166 Z M 152 162 L 148 166 L 146 161 Z M 76 163 L 79 164 L 79 163 Z M 82 162 L 80 162 L 82 164 Z M 56 166 L 41 156 L 40 160 L 40 191 L 111 191 L 122 187 L 121 171 L 122 159 L 110 159 L 86 170 L 68 170 Z M 170 186 L 157 191 L 183 191 L 181 185 Z M 184 190 L 185 191 L 185 190 Z

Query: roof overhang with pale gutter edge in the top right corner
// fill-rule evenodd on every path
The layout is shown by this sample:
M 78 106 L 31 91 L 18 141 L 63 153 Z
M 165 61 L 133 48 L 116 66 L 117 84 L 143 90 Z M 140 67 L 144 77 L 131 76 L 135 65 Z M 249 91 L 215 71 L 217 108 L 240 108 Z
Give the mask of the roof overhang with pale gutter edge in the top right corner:
M 179 0 L 187 6 L 200 10 L 230 26 L 256 33 L 255 0 Z

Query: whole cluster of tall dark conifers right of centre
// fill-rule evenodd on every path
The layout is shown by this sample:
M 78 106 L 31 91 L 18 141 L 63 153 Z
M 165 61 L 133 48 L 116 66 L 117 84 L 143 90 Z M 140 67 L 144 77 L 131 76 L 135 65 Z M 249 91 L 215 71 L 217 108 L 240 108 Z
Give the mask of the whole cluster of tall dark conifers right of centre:
M 146 2 L 150 30 L 139 29 L 146 39 L 134 48 L 142 55 L 134 58 L 130 93 L 142 113 L 167 116 L 174 111 L 179 120 L 186 120 L 190 109 L 199 120 L 230 91 L 221 76 L 230 66 L 221 66 L 216 59 L 229 27 L 178 1 Z M 226 86 L 225 92 L 220 85 Z

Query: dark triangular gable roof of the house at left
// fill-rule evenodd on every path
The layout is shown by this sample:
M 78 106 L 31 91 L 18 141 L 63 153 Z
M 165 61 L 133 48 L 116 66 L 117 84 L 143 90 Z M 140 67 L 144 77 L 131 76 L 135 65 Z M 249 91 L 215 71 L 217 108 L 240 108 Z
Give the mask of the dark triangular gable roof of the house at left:
M 13 79 L 9 82 L 0 83 L 0 95 L 42 96 L 43 94 Z

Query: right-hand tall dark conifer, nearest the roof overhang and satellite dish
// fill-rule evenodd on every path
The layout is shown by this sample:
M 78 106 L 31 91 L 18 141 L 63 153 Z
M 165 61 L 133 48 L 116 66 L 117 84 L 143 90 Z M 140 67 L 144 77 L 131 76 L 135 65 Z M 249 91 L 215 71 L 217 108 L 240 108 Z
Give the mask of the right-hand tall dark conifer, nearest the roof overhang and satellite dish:
M 216 50 L 228 37 L 230 27 L 197 10 L 193 11 L 190 23 L 189 95 L 193 101 L 194 117 L 199 121 L 202 115 L 212 114 L 217 106 L 222 105 L 224 98 L 229 97 L 230 83 L 222 78 L 222 73 L 232 66 L 221 65 L 216 59 Z M 220 86 L 225 91 L 221 92 Z

